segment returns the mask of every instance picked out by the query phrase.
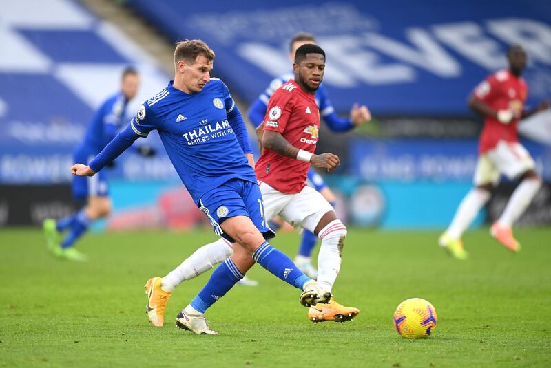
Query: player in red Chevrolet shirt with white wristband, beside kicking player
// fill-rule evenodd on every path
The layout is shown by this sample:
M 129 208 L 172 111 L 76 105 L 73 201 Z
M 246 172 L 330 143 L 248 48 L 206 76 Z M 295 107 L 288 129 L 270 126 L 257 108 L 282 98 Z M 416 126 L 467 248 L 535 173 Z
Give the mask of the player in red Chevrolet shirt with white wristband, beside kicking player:
M 310 165 L 333 171 L 339 158 L 332 153 L 316 155 L 320 113 L 314 95 L 322 82 L 325 52 L 307 43 L 295 52 L 294 80 L 271 96 L 259 134 L 262 154 L 256 163 L 256 177 L 264 201 L 264 218 L 279 215 L 295 228 L 305 228 L 322 239 L 318 255 L 318 285 L 331 292 L 340 271 L 346 227 L 335 210 L 314 188 L 306 186 Z M 360 311 L 344 307 L 333 298 L 326 304 L 313 305 L 311 321 L 352 320 Z

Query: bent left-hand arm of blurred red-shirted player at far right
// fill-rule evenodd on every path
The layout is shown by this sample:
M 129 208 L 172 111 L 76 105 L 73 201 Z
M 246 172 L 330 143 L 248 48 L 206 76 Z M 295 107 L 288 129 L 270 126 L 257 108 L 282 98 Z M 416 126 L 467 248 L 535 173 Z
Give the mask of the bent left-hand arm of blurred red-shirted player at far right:
M 472 111 L 485 118 L 494 118 L 502 124 L 509 124 L 512 120 L 519 118 L 510 110 L 495 110 L 490 107 L 489 102 L 495 98 L 499 81 L 495 75 L 483 80 L 469 97 L 468 106 Z

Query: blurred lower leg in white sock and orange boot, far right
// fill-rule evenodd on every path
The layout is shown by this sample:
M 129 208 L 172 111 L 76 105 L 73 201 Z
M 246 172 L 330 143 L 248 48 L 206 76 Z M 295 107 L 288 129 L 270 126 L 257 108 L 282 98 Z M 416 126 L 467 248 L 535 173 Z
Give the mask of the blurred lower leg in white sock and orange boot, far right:
M 512 225 L 528 208 L 540 186 L 541 179 L 535 173 L 524 179 L 512 193 L 501 217 L 490 228 L 490 235 L 512 252 L 521 250 L 520 243 L 512 234 Z

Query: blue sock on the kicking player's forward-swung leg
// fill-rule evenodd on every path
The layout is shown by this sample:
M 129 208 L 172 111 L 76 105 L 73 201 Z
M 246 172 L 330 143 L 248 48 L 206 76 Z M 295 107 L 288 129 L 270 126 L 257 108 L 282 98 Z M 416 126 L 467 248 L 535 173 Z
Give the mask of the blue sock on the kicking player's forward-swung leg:
M 304 283 L 311 280 L 295 266 L 289 257 L 273 248 L 267 241 L 255 250 L 253 259 L 275 276 L 300 290 Z

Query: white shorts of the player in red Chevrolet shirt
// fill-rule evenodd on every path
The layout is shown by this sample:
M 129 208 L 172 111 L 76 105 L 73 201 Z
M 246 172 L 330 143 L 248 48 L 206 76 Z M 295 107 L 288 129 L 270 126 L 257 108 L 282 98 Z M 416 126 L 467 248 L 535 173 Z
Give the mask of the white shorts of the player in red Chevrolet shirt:
M 314 232 L 323 215 L 335 210 L 320 192 L 310 186 L 304 186 L 299 193 L 287 194 L 260 182 L 260 192 L 266 221 L 280 215 L 298 230 L 305 228 Z

